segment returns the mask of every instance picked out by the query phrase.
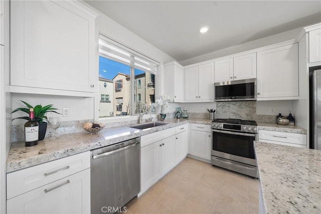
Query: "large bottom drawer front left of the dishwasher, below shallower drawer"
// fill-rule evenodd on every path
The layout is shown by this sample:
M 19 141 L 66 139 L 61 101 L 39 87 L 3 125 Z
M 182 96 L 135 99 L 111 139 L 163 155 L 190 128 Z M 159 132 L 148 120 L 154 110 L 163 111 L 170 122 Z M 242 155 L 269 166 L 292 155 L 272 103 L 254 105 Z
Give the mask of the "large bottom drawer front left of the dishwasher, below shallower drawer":
M 7 213 L 90 213 L 90 169 L 7 200 Z

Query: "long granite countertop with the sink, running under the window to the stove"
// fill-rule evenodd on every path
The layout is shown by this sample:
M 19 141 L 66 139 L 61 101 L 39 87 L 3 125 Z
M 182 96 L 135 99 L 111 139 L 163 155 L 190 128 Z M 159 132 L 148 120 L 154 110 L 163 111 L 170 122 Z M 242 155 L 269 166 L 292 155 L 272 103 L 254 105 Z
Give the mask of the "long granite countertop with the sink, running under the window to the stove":
M 139 130 L 128 126 L 104 128 L 98 134 L 91 135 L 84 131 L 61 135 L 59 139 L 45 138 L 44 140 L 39 141 L 38 145 L 32 147 L 25 147 L 24 141 L 14 142 L 11 145 L 7 159 L 7 173 L 189 122 L 211 124 L 211 120 L 208 119 L 189 118 L 177 120 L 170 118 L 165 119 L 164 123 L 167 124 L 153 127 L 148 130 Z

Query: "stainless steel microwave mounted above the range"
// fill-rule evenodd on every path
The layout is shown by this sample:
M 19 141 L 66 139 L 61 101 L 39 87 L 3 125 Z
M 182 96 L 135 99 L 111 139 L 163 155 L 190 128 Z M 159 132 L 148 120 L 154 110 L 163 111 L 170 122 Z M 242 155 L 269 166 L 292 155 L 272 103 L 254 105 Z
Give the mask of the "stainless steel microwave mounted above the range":
M 214 84 L 215 101 L 256 100 L 256 78 Z

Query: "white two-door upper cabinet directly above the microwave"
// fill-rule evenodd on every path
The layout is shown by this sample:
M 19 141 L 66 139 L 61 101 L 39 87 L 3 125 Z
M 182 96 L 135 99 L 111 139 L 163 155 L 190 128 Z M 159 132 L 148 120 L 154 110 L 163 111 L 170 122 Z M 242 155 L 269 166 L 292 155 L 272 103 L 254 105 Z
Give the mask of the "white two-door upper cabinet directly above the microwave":
M 256 53 L 215 62 L 215 82 L 256 78 Z

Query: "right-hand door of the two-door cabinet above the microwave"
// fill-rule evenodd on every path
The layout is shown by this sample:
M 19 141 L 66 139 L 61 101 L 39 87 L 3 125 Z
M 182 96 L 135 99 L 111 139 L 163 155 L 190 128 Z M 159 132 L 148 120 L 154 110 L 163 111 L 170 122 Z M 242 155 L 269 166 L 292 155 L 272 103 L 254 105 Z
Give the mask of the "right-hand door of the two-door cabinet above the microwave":
M 256 53 L 234 57 L 233 80 L 256 78 Z

